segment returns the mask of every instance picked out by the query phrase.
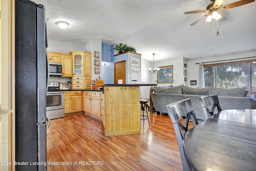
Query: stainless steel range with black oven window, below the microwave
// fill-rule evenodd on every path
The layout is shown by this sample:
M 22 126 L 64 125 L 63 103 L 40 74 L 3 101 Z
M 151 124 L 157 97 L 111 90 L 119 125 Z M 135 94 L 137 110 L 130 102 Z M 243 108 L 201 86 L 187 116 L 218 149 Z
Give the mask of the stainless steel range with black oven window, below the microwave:
M 59 82 L 49 82 L 46 94 L 46 116 L 55 119 L 65 116 L 64 91 Z

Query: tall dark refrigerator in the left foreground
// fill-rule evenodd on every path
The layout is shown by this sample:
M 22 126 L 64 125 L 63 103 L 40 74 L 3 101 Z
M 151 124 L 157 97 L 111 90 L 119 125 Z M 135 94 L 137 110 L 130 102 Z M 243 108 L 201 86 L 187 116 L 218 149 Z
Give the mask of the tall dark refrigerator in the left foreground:
M 15 0 L 15 161 L 46 170 L 46 24 L 44 6 Z

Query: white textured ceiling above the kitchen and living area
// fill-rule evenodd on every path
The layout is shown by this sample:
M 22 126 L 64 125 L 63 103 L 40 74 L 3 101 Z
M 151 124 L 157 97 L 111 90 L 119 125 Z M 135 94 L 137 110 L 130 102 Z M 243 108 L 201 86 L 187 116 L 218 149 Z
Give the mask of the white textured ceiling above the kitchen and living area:
M 48 38 L 86 42 L 124 43 L 149 61 L 184 57 L 207 58 L 256 50 L 256 2 L 223 10 L 227 20 L 192 22 L 206 13 L 210 0 L 32 0 L 46 8 Z M 238 0 L 225 0 L 230 4 Z M 62 30 L 55 24 L 66 21 Z M 213 33 L 215 32 L 215 34 Z

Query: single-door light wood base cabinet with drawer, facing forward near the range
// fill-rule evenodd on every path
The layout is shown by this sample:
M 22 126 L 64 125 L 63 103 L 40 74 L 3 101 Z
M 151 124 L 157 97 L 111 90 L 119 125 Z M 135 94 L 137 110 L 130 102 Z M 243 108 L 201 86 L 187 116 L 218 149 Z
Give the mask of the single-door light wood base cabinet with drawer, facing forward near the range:
M 69 92 L 69 112 L 83 111 L 82 109 L 82 91 Z

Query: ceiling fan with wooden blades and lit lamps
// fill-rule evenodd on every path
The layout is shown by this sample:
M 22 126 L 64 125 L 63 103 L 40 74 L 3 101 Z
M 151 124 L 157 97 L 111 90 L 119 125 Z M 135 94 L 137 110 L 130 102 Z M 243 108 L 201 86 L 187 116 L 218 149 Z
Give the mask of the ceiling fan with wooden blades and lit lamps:
M 188 11 L 188 12 L 184 13 L 184 14 L 194 14 L 194 13 L 208 12 L 208 14 L 205 14 L 204 16 L 199 18 L 198 20 L 196 20 L 195 22 L 190 24 L 190 26 L 194 26 L 196 23 L 200 22 L 206 16 L 208 16 L 206 18 L 207 22 L 211 22 L 212 18 L 222 22 L 222 21 L 226 20 L 227 18 L 226 18 L 226 16 L 223 13 L 219 12 L 220 10 L 227 10 L 229 8 L 234 8 L 234 7 L 237 7 L 237 6 L 242 6 L 242 5 L 254 2 L 255 0 L 240 0 L 240 1 L 237 1 L 237 2 L 233 2 L 231 4 L 227 4 L 225 6 L 222 6 L 222 4 L 223 4 L 223 2 L 225 0 L 211 0 L 211 1 L 213 3 L 208 5 L 206 7 L 206 10 Z

